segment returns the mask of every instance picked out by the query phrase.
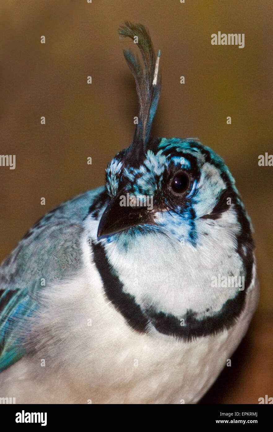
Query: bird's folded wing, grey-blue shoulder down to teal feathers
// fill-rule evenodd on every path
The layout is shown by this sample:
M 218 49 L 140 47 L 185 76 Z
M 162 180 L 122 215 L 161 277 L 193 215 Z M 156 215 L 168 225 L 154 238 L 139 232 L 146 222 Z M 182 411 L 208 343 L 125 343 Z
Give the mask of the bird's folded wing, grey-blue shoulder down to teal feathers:
M 0 267 L 0 371 L 24 355 L 19 328 L 39 307 L 37 293 L 81 269 L 83 221 L 103 188 L 47 213 Z

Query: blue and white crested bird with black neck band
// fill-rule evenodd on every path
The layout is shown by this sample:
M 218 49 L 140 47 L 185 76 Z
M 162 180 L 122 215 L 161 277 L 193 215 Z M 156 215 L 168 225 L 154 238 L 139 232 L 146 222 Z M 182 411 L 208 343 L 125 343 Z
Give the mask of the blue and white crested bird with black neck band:
M 141 55 L 124 50 L 132 142 L 104 186 L 43 216 L 0 267 L 0 389 L 16 403 L 198 403 L 257 307 L 233 176 L 196 138 L 151 137 L 161 51 L 143 24 L 118 32 Z

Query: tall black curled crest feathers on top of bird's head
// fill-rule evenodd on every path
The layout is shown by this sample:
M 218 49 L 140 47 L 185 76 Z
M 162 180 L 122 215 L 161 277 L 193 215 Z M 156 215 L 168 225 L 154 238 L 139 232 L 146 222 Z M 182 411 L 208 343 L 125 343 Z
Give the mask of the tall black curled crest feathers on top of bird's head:
M 146 152 L 152 120 L 158 105 L 161 88 L 161 76 L 158 73 L 160 51 L 156 57 L 149 31 L 142 24 L 132 24 L 125 21 L 124 25 L 121 25 L 118 29 L 118 33 L 122 38 L 129 37 L 133 40 L 136 40 L 135 36 L 137 36 L 136 45 L 140 49 L 144 63 L 143 68 L 137 55 L 134 56 L 130 49 L 124 50 L 125 60 L 136 82 L 136 91 L 140 106 L 133 143 L 127 152 L 127 158 L 133 156 L 136 161 Z

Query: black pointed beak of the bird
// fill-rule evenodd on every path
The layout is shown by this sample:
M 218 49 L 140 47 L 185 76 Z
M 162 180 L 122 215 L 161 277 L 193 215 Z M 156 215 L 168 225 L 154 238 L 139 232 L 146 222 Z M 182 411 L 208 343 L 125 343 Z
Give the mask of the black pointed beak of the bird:
M 121 191 L 106 207 L 99 222 L 97 237 L 114 234 L 133 226 L 155 225 L 152 210 L 148 210 L 147 206 L 121 206 L 121 195 L 126 196 L 126 191 Z

